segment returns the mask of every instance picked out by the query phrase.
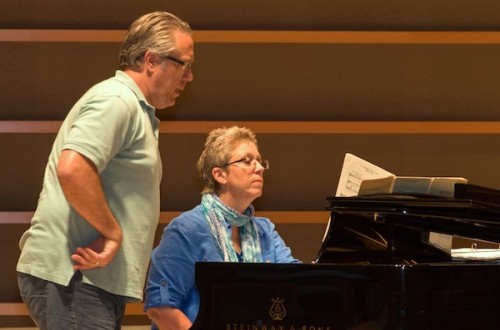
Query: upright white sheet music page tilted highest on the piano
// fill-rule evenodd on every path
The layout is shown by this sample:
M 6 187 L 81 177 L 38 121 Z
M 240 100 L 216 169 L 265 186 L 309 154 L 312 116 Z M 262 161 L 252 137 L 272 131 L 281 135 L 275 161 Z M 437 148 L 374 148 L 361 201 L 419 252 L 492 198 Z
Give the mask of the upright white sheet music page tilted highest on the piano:
M 390 176 L 394 177 L 394 174 L 353 154 L 346 153 L 335 196 L 357 196 L 363 180 L 386 178 Z

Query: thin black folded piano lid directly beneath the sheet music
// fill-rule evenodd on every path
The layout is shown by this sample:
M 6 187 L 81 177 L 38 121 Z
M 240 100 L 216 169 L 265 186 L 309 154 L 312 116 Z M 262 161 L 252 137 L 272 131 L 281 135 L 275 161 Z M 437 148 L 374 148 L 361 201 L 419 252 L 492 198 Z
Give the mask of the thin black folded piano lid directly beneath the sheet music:
M 329 197 L 332 218 L 371 222 L 500 243 L 500 205 L 471 199 L 402 196 Z

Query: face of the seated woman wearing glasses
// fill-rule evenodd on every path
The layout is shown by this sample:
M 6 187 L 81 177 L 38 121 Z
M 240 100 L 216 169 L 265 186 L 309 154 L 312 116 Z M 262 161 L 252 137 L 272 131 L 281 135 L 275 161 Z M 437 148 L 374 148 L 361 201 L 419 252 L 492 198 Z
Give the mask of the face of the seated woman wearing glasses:
M 240 161 L 241 160 L 241 161 Z M 241 142 L 232 152 L 225 168 L 224 193 L 237 203 L 249 205 L 262 195 L 264 167 L 257 146 L 250 141 Z

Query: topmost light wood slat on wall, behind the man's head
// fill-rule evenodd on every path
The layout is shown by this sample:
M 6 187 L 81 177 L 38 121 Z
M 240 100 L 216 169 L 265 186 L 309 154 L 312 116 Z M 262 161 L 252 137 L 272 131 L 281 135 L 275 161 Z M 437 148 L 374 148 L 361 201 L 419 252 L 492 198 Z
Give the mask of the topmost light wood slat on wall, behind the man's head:
M 125 30 L 0 29 L 0 42 L 121 42 Z M 196 43 L 500 44 L 497 31 L 196 30 Z

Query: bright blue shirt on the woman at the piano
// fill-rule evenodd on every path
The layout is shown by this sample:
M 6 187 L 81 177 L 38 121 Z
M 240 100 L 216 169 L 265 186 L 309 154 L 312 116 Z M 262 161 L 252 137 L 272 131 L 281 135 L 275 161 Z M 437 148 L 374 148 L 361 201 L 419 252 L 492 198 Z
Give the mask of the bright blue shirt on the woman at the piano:
M 292 256 L 290 248 L 269 219 L 255 217 L 254 221 L 259 231 L 264 262 L 300 262 Z M 227 230 L 230 235 L 229 223 Z M 175 307 L 194 322 L 200 305 L 194 278 L 195 263 L 198 261 L 224 261 L 211 236 L 201 205 L 182 213 L 165 228 L 151 257 L 144 308 Z

